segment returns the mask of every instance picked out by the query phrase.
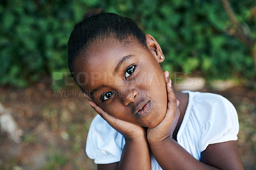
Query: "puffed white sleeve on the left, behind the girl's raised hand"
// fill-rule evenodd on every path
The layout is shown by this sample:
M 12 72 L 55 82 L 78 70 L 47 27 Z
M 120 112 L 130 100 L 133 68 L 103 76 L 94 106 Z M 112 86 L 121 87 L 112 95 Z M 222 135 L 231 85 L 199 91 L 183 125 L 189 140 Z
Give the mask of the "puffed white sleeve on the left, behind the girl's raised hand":
M 95 164 L 119 162 L 124 144 L 122 134 L 112 128 L 99 114 L 95 116 L 86 141 L 86 154 Z

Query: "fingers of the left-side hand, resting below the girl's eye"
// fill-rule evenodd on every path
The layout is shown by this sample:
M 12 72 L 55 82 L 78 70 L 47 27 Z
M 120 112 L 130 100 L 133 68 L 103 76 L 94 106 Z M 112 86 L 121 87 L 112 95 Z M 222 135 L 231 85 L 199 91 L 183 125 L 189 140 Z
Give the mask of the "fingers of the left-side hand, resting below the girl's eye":
M 108 121 L 109 125 L 113 126 L 116 124 L 116 118 L 105 112 L 99 105 L 95 104 L 95 102 L 88 101 L 88 104 L 92 106 L 92 108 L 106 121 Z

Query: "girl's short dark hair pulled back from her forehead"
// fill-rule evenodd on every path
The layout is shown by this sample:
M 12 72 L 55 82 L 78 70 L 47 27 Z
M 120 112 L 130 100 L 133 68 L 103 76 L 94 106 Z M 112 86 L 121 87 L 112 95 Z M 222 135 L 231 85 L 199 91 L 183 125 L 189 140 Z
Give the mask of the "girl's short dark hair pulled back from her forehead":
M 86 47 L 93 41 L 106 40 L 106 38 L 115 38 L 120 42 L 136 38 L 138 42 L 147 47 L 145 33 L 129 18 L 115 13 L 100 13 L 85 17 L 74 26 L 68 40 L 68 67 L 73 77 L 76 57 L 81 56 L 81 52 L 85 52 Z M 75 77 L 74 79 L 76 81 Z

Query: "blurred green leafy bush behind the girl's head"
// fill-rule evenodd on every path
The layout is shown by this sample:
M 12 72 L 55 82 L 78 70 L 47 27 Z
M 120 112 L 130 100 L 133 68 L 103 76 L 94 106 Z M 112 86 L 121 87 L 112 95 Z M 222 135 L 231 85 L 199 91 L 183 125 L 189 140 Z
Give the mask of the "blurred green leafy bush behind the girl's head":
M 255 38 L 255 0 L 230 0 L 230 4 Z M 161 45 L 164 70 L 202 72 L 207 79 L 255 77 L 250 50 L 228 35 L 232 23 L 221 1 L 4 0 L 0 4 L 0 85 L 26 87 L 52 72 L 69 72 L 68 37 L 90 8 L 136 20 Z

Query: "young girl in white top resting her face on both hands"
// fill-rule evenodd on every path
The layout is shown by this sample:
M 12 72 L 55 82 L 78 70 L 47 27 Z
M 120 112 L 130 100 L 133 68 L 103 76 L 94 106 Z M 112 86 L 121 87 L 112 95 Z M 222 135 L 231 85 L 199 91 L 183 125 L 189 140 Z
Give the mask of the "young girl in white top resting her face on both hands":
M 173 91 L 157 41 L 131 19 L 101 13 L 77 24 L 68 66 L 99 114 L 86 153 L 98 169 L 243 169 L 237 113 L 226 98 Z

